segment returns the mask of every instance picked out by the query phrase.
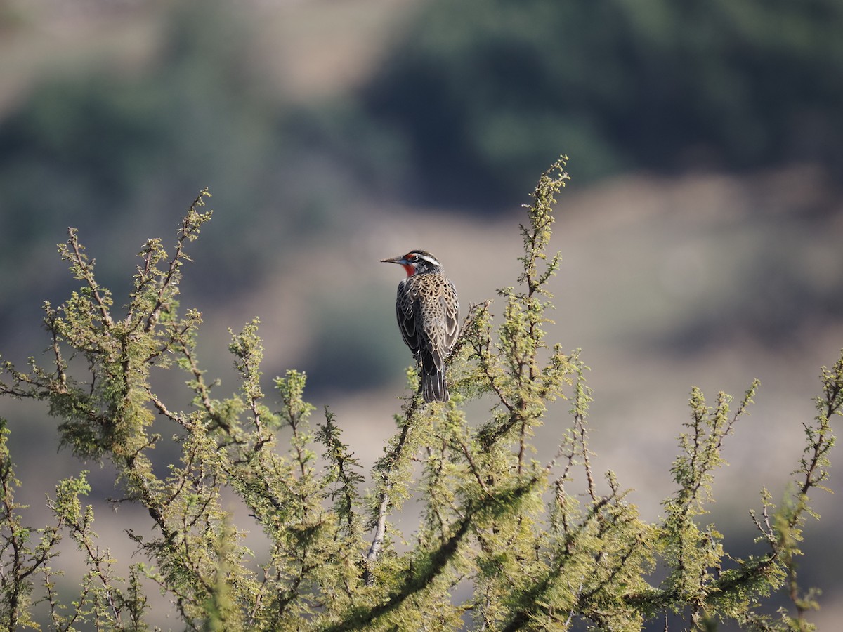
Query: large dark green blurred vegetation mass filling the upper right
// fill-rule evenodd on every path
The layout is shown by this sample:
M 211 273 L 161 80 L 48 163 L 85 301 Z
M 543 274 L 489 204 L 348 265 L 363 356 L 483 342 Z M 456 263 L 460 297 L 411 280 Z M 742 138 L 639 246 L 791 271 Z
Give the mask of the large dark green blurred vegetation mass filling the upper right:
M 461 204 L 520 201 L 560 147 L 579 181 L 839 168 L 841 32 L 839 0 L 433 0 L 363 99 L 405 138 L 416 194 Z

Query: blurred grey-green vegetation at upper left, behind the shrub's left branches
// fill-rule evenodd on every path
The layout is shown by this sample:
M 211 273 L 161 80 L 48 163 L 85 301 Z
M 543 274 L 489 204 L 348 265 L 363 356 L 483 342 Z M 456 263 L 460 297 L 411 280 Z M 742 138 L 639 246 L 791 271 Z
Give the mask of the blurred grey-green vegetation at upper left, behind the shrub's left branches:
M 162 44 L 141 69 L 63 69 L 0 121 L 0 268 L 19 271 L 0 276 L 0 329 L 62 295 L 62 266 L 43 260 L 67 226 L 96 244 L 120 301 L 143 239 L 175 234 L 180 206 L 212 185 L 215 230 L 196 249 L 206 273 L 194 285 L 230 301 L 338 221 L 352 179 L 302 142 L 300 112 L 266 94 L 248 17 L 189 2 L 159 19 Z

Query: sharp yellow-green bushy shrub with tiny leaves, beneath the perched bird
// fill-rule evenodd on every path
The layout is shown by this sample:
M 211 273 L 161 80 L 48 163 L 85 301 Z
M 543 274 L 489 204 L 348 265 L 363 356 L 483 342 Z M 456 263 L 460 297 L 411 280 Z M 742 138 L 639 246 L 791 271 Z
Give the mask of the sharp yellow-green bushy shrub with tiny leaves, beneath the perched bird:
M 341 420 L 326 410 L 324 420 L 311 422 L 302 372 L 276 378 L 277 404 L 267 401 L 256 321 L 232 335 L 238 393 L 218 395 L 201 369 L 201 314 L 181 312 L 177 297 L 187 249 L 211 217 L 201 212 L 207 192 L 185 215 L 175 249 L 165 252 L 159 239 L 143 246 L 121 313 L 71 230 L 61 252 L 81 287 L 57 307 L 45 304 L 51 363 L 33 359 L 24 370 L 4 363 L 0 393 L 46 400 L 63 445 L 110 461 L 121 500 L 144 507 L 153 530 L 126 529 L 138 561 L 126 579 L 115 576 L 115 560 L 97 547 L 93 511 L 83 505 L 84 474 L 56 486 L 51 525 L 27 526 L 14 501 L 4 423 L 0 626 L 35 627 L 33 608 L 46 603 L 54 629 L 148 629 L 145 577 L 171 599 L 187 629 L 637 630 L 668 613 L 693 629 L 728 621 L 742 629 L 810 629 L 813 593 L 799 586 L 794 558 L 812 515 L 809 494 L 826 479 L 835 440 L 830 418 L 843 407 L 843 357 L 822 371 L 792 491 L 778 507 L 763 491 L 753 514 L 764 554 L 728 554 L 703 517 L 724 463 L 722 443 L 752 403 L 755 383 L 734 408 L 727 394 L 709 405 L 692 391 L 671 469 L 676 491 L 663 502 L 662 518 L 643 521 L 615 475 L 595 470 L 580 352 L 545 340 L 547 282 L 561 263 L 548 246 L 564 166 L 554 164 L 534 190 L 521 226 L 522 270 L 499 291 L 500 318 L 491 301 L 469 310 L 450 367 L 451 401 L 424 404 L 416 371 L 408 372 L 410 389 L 369 495 Z M 160 371 L 185 376 L 189 408 L 158 397 L 150 377 Z M 491 403 L 486 420 L 466 413 L 475 399 Z M 540 462 L 532 437 L 550 421 L 556 399 L 569 402 L 570 420 L 561 425 L 556 455 Z M 151 431 L 156 418 L 171 437 Z M 151 451 L 164 443 L 175 444 L 180 459 L 159 474 Z M 223 509 L 223 490 L 263 529 L 258 570 L 242 527 Z M 420 522 L 402 535 L 391 518 L 410 498 L 421 502 Z M 88 570 L 66 603 L 55 590 L 56 544 L 68 536 Z M 783 587 L 792 612 L 761 613 Z

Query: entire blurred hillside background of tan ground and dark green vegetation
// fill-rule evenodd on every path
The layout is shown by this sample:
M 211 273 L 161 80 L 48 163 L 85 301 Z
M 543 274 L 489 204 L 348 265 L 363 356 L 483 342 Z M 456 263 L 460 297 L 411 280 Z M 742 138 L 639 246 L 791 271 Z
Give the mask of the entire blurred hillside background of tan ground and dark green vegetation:
M 68 226 L 119 305 L 145 239 L 171 243 L 208 186 L 182 306 L 204 313 L 209 376 L 237 388 L 227 329 L 260 317 L 266 391 L 306 370 L 369 466 L 410 363 L 403 273 L 378 260 L 429 249 L 464 306 L 493 297 L 518 272 L 520 206 L 566 153 L 550 340 L 592 369 L 595 466 L 653 519 L 690 387 L 713 402 L 760 378 L 711 507 L 746 554 L 748 510 L 784 493 L 843 346 L 840 33 L 839 0 L 0 0 L 0 353 L 46 347 L 40 304 L 77 286 Z M 46 410 L 0 415 L 33 522 L 81 468 L 104 538 L 144 520 L 103 505 L 109 469 L 57 451 Z M 562 406 L 548 453 L 567 423 Z M 843 506 L 814 506 L 800 576 L 832 629 Z

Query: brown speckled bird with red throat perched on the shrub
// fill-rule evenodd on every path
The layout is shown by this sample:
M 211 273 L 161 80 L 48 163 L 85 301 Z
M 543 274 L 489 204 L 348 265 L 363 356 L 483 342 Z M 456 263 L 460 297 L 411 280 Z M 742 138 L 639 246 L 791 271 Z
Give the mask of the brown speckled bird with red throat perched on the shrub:
M 426 402 L 447 402 L 445 361 L 459 336 L 459 301 L 442 264 L 425 250 L 411 250 L 381 263 L 404 266 L 398 284 L 395 315 L 405 344 L 421 366 L 421 394 Z

